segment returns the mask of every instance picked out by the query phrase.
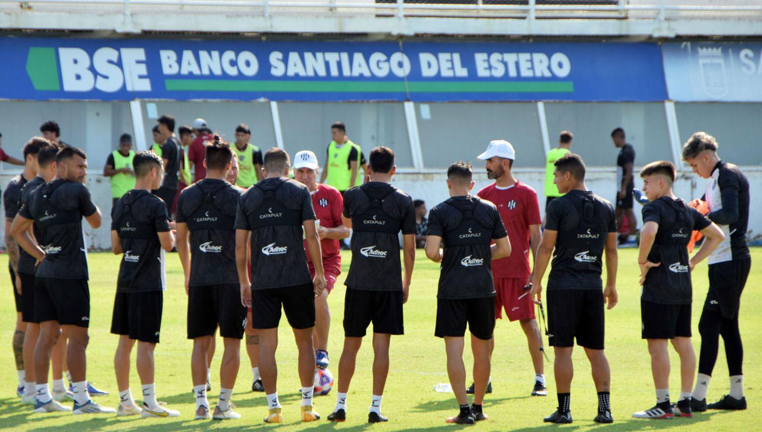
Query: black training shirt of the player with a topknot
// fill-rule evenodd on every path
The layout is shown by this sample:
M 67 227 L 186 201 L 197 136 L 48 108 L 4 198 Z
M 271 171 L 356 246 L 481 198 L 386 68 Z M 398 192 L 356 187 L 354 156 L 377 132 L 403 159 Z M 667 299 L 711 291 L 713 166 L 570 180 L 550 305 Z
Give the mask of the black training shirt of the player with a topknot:
M 191 232 L 191 286 L 239 283 L 235 210 L 241 192 L 227 181 L 205 178 L 180 193 L 175 220 Z

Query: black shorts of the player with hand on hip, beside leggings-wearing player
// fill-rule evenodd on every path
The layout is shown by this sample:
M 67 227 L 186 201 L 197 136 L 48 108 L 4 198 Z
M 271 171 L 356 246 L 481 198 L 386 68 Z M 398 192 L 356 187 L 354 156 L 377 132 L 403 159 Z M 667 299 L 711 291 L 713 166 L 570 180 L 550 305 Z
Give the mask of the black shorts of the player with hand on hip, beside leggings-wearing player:
M 690 338 L 690 305 L 640 300 L 642 339 Z

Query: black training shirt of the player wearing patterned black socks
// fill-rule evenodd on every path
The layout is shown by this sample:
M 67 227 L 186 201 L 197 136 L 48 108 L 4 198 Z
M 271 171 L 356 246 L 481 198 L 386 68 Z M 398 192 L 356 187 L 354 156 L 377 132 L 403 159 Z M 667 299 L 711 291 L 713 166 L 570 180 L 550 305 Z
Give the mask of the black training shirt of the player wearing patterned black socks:
M 571 190 L 548 204 L 545 229 L 558 232 L 548 290 L 600 290 L 606 239 L 616 232 L 611 203 L 590 191 Z

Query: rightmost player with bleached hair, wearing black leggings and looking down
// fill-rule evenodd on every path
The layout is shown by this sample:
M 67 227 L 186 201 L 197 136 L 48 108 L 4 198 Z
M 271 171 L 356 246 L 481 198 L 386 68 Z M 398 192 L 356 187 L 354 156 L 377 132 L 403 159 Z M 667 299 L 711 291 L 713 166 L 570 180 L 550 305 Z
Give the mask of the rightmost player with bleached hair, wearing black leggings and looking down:
M 716 139 L 703 132 L 694 133 L 683 146 L 683 160 L 701 178 L 709 179 L 703 200 L 709 204 L 709 220 L 725 234 L 725 240 L 709 255 L 709 292 L 699 321 L 701 351 L 699 374 L 693 389 L 694 411 L 704 411 L 706 389 L 712 376 L 719 336 L 725 341 L 725 357 L 730 373 L 730 394 L 709 409 L 746 409 L 742 363 L 744 346 L 738 331 L 741 293 L 751 269 L 746 244 L 749 222 L 749 182 L 736 165 L 723 162 L 717 155 Z

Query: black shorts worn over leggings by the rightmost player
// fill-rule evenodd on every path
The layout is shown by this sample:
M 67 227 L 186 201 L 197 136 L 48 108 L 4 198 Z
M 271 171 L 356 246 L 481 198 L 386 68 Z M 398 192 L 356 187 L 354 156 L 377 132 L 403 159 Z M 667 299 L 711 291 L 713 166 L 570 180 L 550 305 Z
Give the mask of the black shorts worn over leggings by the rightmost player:
M 709 265 L 709 291 L 705 310 L 718 310 L 724 318 L 734 319 L 741 306 L 741 293 L 751 270 L 751 258 Z

